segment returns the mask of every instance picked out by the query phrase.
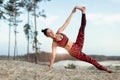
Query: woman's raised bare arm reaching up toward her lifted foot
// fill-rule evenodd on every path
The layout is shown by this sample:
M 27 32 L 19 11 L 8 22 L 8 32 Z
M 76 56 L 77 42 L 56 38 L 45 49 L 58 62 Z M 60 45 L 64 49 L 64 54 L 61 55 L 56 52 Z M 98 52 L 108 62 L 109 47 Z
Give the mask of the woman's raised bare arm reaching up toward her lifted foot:
M 66 20 L 66 22 L 63 24 L 62 27 L 60 27 L 57 31 L 57 33 L 61 33 L 64 31 L 64 29 L 68 26 L 68 24 L 70 23 L 71 19 L 72 19 L 72 16 L 73 14 L 76 12 L 76 7 L 72 10 L 70 16 L 68 17 L 68 19 Z

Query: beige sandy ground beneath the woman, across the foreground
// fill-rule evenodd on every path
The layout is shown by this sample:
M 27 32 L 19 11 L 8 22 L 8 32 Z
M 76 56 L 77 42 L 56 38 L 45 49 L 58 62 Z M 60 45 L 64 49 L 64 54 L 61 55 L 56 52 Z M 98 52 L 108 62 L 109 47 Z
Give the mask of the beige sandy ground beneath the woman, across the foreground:
M 111 74 L 92 68 L 86 63 L 72 62 L 79 64 L 76 69 L 62 68 L 62 62 L 58 63 L 49 70 L 46 63 L 0 60 L 0 80 L 120 80 L 120 61 L 101 62 L 116 71 Z

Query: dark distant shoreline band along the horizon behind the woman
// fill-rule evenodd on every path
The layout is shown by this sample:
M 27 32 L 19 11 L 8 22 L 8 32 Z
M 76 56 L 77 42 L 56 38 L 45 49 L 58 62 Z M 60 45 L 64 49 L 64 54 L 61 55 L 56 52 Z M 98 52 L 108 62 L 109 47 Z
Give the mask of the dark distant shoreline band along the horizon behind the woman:
M 96 59 L 97 61 L 110 61 L 110 60 L 120 60 L 120 56 L 104 56 L 104 55 L 89 55 L 92 58 Z M 51 54 L 48 52 L 42 52 L 38 54 L 38 61 L 40 62 L 49 62 Z M 26 61 L 27 55 L 18 55 L 16 56 L 16 60 L 23 60 Z M 29 54 L 30 62 L 34 62 L 35 55 L 34 53 Z M 7 55 L 0 55 L 0 60 L 7 60 Z M 10 56 L 10 59 L 13 59 L 13 56 Z M 77 60 L 70 56 L 69 54 L 56 54 L 55 62 L 61 60 Z

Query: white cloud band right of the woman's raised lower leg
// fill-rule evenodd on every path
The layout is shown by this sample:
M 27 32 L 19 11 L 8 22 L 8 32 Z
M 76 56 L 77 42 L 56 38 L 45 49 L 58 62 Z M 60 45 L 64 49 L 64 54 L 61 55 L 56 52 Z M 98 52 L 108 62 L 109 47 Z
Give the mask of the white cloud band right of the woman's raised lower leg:
M 98 25 L 100 24 L 113 25 L 115 23 L 120 23 L 120 14 L 93 13 L 88 14 L 87 18 L 94 24 Z

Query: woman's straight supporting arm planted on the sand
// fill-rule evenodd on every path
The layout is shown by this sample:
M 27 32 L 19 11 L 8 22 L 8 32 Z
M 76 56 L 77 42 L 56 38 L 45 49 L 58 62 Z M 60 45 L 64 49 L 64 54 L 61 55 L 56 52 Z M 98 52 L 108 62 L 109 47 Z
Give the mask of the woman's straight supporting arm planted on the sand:
M 55 61 L 55 56 L 56 56 L 56 43 L 53 41 L 52 43 L 52 55 L 51 55 L 51 59 L 50 59 L 50 69 L 52 69 L 52 65 Z

